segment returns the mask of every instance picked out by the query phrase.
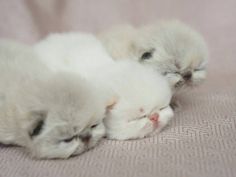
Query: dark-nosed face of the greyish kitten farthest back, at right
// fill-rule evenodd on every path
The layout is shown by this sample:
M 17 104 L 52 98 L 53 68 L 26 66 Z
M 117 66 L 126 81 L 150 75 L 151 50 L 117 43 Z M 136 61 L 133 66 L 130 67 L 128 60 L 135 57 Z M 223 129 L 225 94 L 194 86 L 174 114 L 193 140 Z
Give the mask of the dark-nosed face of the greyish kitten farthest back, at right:
M 165 51 L 149 49 L 140 53 L 139 61 L 161 72 L 169 81 L 172 90 L 182 87 L 195 86 L 206 78 L 206 58 L 201 54 L 186 51 L 186 56 L 175 58 Z

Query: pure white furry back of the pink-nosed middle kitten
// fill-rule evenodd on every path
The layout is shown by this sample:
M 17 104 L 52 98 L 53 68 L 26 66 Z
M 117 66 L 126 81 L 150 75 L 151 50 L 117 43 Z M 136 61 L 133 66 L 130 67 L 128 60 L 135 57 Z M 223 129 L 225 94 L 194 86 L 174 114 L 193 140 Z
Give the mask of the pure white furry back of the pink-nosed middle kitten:
M 40 59 L 53 71 L 86 75 L 90 70 L 102 66 L 103 62 L 111 60 L 101 43 L 87 33 L 52 34 L 34 48 Z

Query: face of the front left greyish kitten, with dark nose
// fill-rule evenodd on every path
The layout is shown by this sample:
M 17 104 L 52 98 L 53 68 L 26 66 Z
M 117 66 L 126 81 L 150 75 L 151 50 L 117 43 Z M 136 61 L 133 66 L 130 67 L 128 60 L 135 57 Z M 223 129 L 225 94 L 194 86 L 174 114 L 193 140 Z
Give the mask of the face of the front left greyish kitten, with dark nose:
M 62 109 L 64 109 L 62 111 Z M 60 109 L 33 111 L 37 118 L 29 131 L 30 149 L 40 158 L 68 158 L 94 147 L 105 134 L 104 113 Z

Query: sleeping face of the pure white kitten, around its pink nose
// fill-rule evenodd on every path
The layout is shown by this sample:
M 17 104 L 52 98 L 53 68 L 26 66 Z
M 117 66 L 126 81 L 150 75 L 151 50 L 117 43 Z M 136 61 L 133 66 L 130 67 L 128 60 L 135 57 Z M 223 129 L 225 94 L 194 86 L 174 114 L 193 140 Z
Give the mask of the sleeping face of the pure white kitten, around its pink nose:
M 144 138 L 153 132 L 159 132 L 174 114 L 169 105 L 156 105 L 158 106 L 118 101 L 105 119 L 107 137 L 127 140 Z

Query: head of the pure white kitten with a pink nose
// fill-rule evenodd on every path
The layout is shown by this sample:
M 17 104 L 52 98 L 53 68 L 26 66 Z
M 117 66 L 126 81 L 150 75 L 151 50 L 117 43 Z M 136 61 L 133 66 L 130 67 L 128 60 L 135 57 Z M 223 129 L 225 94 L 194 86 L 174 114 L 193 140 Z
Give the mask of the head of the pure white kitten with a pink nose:
M 155 70 L 131 61 L 120 63 L 120 70 L 109 73 L 118 99 L 105 119 L 107 134 L 114 139 L 143 138 L 157 128 L 151 120 L 154 115 L 166 122 L 173 117 L 169 107 L 171 90 L 166 79 Z M 134 129 L 124 128 L 124 124 L 141 119 L 147 119 L 148 123 L 137 133 L 133 134 L 136 125 Z

